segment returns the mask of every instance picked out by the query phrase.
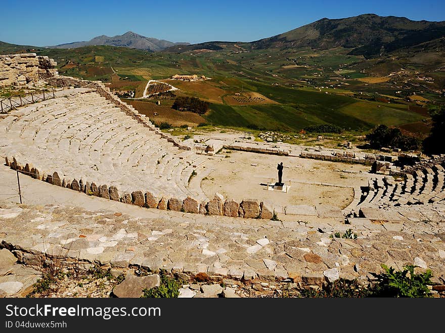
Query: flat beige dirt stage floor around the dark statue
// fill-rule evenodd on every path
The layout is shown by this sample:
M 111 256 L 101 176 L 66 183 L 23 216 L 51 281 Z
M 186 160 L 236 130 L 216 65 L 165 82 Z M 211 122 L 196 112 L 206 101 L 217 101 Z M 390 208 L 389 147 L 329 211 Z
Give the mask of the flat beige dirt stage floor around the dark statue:
M 238 202 L 254 198 L 278 206 L 324 204 L 342 209 L 352 202 L 353 187 L 367 184 L 370 177 L 369 167 L 358 164 L 227 150 L 221 155 L 206 161 L 206 169 L 214 170 L 201 181 L 208 198 L 218 192 Z M 278 181 L 280 162 L 285 166 L 283 182 L 290 184 L 288 193 L 267 190 L 268 182 Z

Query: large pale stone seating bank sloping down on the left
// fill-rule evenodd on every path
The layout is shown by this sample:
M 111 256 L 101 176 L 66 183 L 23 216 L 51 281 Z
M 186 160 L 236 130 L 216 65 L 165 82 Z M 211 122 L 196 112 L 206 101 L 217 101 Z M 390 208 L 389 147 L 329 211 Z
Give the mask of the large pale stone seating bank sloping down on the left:
M 92 89 L 58 95 L 0 121 L 3 157 L 32 163 L 40 176 L 57 171 L 66 183 L 82 179 L 128 193 L 143 189 L 167 199 L 207 199 L 195 183 L 189 188 L 199 168 L 192 151 L 174 147 Z

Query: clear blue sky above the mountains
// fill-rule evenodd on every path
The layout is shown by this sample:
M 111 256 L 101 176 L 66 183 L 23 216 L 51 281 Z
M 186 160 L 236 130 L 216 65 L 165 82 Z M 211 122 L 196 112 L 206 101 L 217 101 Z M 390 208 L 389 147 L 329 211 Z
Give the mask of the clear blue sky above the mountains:
M 128 30 L 174 42 L 252 41 L 324 17 L 367 13 L 416 21 L 445 20 L 445 0 L 0 0 L 0 6 L 0 40 L 35 46 L 120 35 Z

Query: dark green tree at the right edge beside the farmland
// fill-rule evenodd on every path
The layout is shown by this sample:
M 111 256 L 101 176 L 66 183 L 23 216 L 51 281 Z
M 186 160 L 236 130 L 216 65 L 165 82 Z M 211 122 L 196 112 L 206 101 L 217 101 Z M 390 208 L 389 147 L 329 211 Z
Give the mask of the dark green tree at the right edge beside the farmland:
M 423 140 L 423 151 L 426 154 L 445 153 L 445 106 L 430 110 L 431 133 Z

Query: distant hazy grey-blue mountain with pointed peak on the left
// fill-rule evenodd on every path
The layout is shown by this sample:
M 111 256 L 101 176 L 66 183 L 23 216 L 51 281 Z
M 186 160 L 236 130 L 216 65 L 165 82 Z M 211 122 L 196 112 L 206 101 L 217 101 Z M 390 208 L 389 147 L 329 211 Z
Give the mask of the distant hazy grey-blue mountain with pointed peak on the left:
M 189 43 L 173 43 L 168 40 L 159 40 L 156 38 L 145 37 L 132 31 L 127 31 L 123 35 L 113 37 L 97 36 L 90 41 L 75 41 L 72 43 L 59 44 L 55 46 L 48 46 L 51 49 L 75 49 L 82 46 L 91 45 L 109 45 L 109 46 L 124 46 L 129 49 L 139 49 L 145 51 L 160 51 L 173 45 L 188 45 Z

